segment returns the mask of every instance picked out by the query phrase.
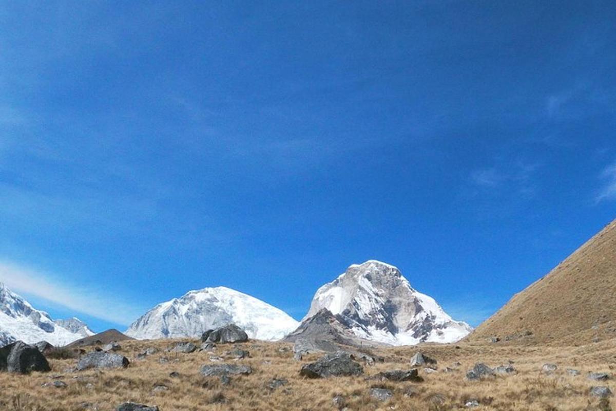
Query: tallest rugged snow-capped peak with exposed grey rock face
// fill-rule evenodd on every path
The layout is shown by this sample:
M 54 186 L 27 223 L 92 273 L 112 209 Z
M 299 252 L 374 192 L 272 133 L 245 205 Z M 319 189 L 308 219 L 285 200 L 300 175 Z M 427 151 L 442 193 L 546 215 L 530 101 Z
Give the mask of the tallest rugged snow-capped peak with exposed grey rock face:
M 324 308 L 360 338 L 392 345 L 452 343 L 472 330 L 411 287 L 399 269 L 375 260 L 319 288 L 304 321 Z

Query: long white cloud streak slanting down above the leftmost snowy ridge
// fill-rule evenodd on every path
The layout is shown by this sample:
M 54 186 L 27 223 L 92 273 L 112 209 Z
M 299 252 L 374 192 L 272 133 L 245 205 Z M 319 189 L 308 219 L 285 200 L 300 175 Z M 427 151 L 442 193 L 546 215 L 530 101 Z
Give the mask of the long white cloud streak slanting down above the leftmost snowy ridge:
M 92 317 L 128 325 L 143 314 L 140 307 L 115 296 L 104 296 L 101 288 L 67 283 L 57 275 L 0 260 L 0 282 L 17 293 L 45 299 Z

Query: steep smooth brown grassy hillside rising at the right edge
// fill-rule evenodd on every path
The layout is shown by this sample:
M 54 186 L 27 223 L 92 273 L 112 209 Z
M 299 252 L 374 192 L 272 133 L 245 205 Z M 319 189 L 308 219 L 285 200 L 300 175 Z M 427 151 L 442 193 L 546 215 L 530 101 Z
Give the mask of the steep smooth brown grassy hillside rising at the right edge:
M 616 221 L 517 293 L 467 338 L 586 344 L 616 338 Z

